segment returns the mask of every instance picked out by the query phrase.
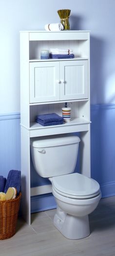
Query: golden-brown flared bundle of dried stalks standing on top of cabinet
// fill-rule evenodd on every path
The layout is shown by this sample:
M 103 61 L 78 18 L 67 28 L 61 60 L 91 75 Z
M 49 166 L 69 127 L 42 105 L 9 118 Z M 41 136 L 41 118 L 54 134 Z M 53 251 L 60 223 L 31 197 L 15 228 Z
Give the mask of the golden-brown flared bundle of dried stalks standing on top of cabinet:
M 70 12 L 71 10 L 69 9 L 58 10 L 60 22 L 64 26 L 64 30 L 70 29 L 70 23 L 69 23 Z

